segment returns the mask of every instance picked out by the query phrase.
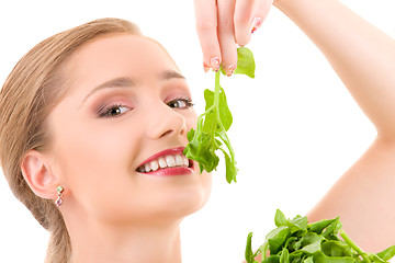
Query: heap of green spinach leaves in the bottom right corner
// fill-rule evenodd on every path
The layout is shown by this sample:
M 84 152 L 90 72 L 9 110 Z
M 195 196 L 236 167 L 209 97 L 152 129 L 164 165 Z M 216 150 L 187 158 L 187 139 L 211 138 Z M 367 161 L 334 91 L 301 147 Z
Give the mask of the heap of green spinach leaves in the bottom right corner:
M 380 253 L 365 253 L 341 230 L 339 218 L 308 224 L 306 217 L 292 220 L 276 210 L 278 228 L 268 233 L 264 243 L 252 252 L 250 232 L 247 238 L 246 261 L 259 263 L 385 263 L 395 254 L 395 245 Z M 342 240 L 339 238 L 342 238 Z

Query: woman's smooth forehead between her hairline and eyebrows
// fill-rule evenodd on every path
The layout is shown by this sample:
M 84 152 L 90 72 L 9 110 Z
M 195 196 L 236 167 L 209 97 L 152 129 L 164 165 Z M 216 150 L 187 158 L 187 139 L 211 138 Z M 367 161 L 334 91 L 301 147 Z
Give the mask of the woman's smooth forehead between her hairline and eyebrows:
M 69 61 L 75 80 L 104 81 L 119 76 L 138 78 L 178 68 L 158 43 L 138 35 L 112 34 L 81 46 Z

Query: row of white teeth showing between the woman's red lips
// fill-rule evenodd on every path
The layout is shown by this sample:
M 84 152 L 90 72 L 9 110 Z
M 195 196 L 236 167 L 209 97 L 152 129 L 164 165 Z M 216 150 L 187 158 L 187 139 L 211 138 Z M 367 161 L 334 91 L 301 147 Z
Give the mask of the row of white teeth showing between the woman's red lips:
M 137 172 L 148 173 L 168 168 L 192 168 L 193 162 L 182 153 L 166 155 L 148 161 L 137 168 Z

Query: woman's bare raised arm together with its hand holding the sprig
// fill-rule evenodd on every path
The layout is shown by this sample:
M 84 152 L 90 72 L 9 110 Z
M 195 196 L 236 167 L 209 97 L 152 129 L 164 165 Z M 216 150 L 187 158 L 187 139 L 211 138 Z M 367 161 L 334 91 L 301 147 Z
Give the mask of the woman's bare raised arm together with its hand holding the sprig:
M 247 44 L 251 21 L 264 20 L 269 11 L 257 7 L 272 1 L 262 0 L 259 5 L 253 0 L 234 2 L 195 1 L 205 67 L 214 68 L 210 65 L 213 57 L 224 65 L 235 64 L 236 44 Z M 224 8 L 225 3 L 233 9 Z M 307 216 L 311 221 L 340 216 L 343 229 L 362 249 L 386 249 L 395 243 L 395 210 L 388 208 L 395 201 L 395 41 L 337 0 L 278 0 L 274 5 L 323 52 L 377 130 L 370 148 Z M 212 10 L 204 13 L 206 7 Z

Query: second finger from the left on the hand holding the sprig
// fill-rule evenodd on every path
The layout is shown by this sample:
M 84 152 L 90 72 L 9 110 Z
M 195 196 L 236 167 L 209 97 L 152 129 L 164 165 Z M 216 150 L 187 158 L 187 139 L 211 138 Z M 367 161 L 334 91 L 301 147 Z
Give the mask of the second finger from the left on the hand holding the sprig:
M 227 76 L 237 67 L 237 50 L 234 28 L 235 0 L 218 0 L 218 39 L 223 68 Z

